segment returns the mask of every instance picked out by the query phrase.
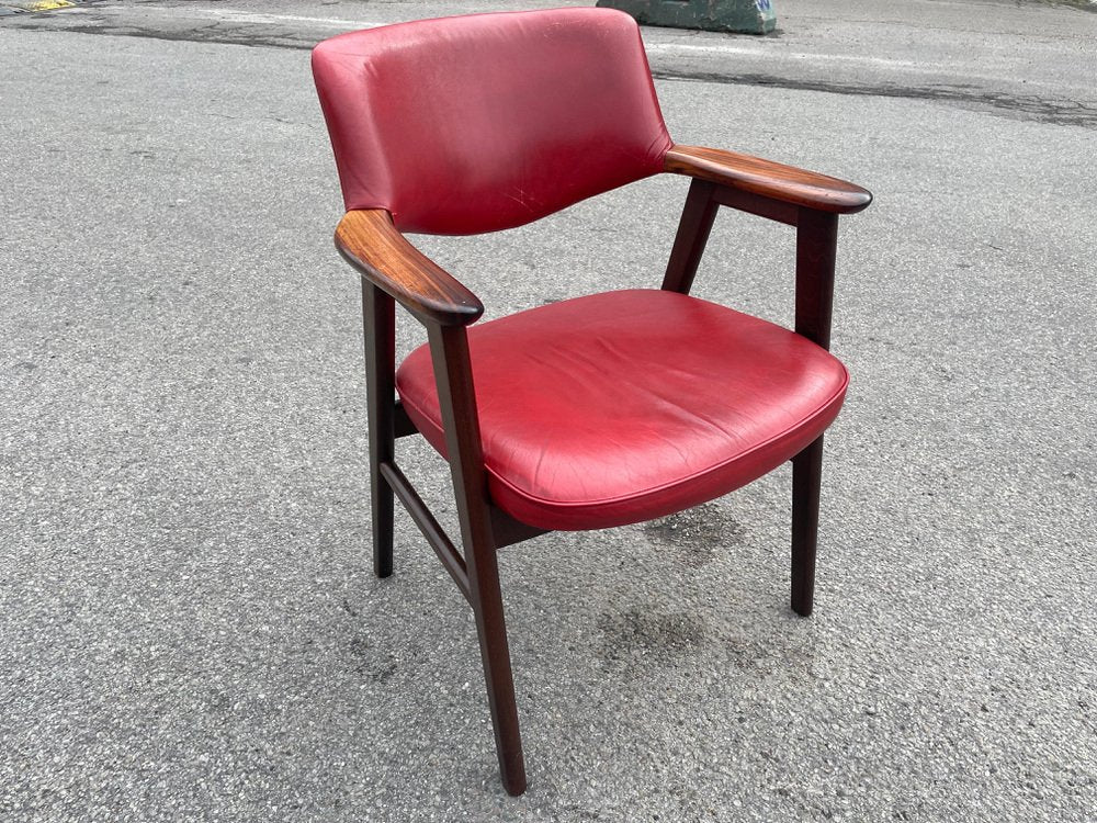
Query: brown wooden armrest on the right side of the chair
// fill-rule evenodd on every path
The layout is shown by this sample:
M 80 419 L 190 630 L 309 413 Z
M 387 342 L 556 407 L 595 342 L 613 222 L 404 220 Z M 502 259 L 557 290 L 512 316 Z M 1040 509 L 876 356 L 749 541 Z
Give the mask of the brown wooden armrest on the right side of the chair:
M 671 146 L 663 168 L 821 212 L 853 214 L 872 202 L 859 185 L 719 148 Z

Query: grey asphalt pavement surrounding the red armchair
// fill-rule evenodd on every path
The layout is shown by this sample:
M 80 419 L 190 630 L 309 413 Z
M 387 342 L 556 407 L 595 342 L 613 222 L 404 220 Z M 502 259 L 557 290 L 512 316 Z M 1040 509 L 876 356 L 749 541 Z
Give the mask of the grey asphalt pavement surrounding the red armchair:
M 305 50 L 488 8 L 0 16 L 0 821 L 1092 821 L 1097 15 L 645 30 L 677 139 L 877 196 L 841 224 L 817 608 L 788 608 L 787 470 L 505 550 L 511 799 L 471 616 L 407 518 L 371 573 Z M 421 246 L 489 316 L 652 285 L 685 185 Z M 722 213 L 698 293 L 788 322 L 791 240 Z M 440 461 L 399 459 L 452 526 Z

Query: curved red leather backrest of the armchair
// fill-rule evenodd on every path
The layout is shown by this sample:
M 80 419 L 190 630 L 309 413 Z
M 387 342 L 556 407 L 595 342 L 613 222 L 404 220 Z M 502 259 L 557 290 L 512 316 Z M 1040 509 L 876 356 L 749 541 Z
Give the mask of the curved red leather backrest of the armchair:
M 660 171 L 671 145 L 640 30 L 611 9 L 351 32 L 313 76 L 347 208 L 407 232 L 519 226 Z

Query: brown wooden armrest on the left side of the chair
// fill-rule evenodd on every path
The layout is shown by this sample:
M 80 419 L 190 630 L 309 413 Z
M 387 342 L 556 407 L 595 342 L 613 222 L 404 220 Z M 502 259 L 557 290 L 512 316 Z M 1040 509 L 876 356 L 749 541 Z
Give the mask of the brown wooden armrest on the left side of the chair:
M 336 228 L 336 248 L 370 282 L 422 319 L 467 326 L 484 314 L 479 298 L 408 243 L 383 208 L 347 212 Z

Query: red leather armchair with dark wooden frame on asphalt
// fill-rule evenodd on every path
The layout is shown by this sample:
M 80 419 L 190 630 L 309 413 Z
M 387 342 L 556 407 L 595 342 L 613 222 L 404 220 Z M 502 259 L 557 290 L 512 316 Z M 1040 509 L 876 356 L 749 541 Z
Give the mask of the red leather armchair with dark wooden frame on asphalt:
M 354 32 L 319 44 L 313 71 L 347 206 L 336 246 L 362 275 L 374 567 L 392 574 L 399 498 L 473 609 L 502 782 L 519 794 L 499 548 L 661 517 L 791 460 L 792 608 L 811 612 L 823 432 L 848 380 L 827 351 L 837 217 L 871 195 L 675 144 L 640 31 L 611 10 Z M 474 325 L 476 295 L 404 236 L 518 226 L 660 172 L 693 179 L 660 289 Z M 795 226 L 794 330 L 689 296 L 721 205 Z M 397 303 L 429 341 L 398 370 Z M 449 460 L 462 551 L 396 463 L 395 441 L 416 433 Z

